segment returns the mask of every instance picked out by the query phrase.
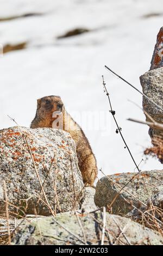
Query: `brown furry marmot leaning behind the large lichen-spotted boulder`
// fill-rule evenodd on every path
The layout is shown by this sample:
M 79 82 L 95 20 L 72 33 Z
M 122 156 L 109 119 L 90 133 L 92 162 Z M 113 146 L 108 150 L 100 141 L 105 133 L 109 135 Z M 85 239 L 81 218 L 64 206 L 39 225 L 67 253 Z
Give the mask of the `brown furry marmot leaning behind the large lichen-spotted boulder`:
M 60 96 L 46 96 L 37 100 L 37 111 L 30 128 L 52 127 L 70 133 L 77 145 L 78 166 L 86 186 L 93 186 L 97 176 L 95 155 L 83 130 L 67 113 Z

